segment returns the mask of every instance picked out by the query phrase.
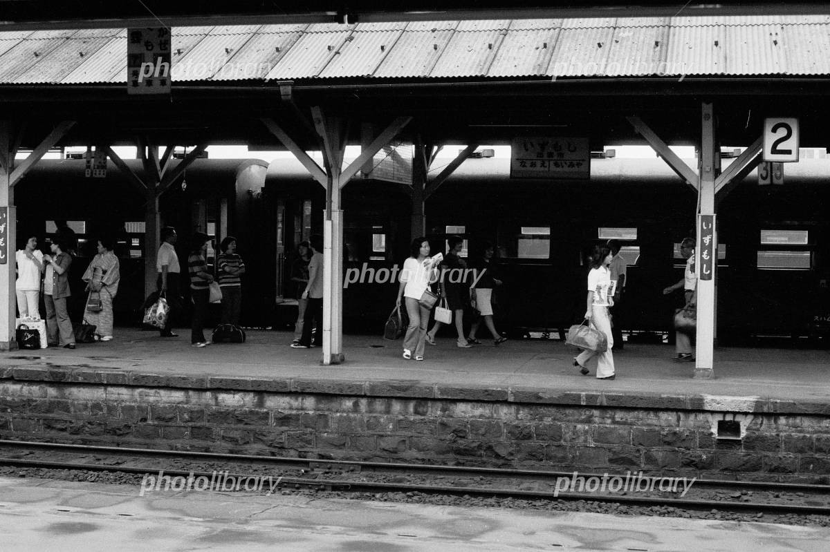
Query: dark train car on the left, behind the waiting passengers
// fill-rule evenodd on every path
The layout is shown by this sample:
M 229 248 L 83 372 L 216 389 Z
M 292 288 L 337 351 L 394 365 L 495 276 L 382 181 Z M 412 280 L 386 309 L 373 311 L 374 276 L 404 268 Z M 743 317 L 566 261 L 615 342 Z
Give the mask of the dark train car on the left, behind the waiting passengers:
M 141 173 L 141 162 L 126 160 Z M 260 305 L 261 232 L 248 222 L 257 206 L 265 182 L 267 163 L 258 159 L 207 159 L 193 162 L 159 200 L 162 225 L 178 230 L 179 259 L 187 259 L 189 237 L 196 230 L 216 241 L 226 235 L 238 238 L 239 254 L 251 267 L 243 297 L 243 316 L 259 325 L 271 316 Z M 83 311 L 84 287 L 81 276 L 95 255 L 95 238 L 101 233 L 114 235 L 120 259 L 121 284 L 115 297 L 115 322 L 137 323 L 144 302 L 144 207 L 146 197 L 129 185 L 125 175 L 110 162 L 105 177 L 85 177 L 85 162 L 78 159 L 41 160 L 15 186 L 17 236 L 37 235 L 41 249 L 56 230 L 55 220 L 66 220 L 78 239 L 71 269 L 70 304 L 72 317 Z M 18 249 L 22 244 L 17 245 Z M 212 258 L 213 251 L 208 252 Z M 208 259 L 210 260 L 210 259 Z M 186 282 L 181 290 L 187 296 Z M 267 293 L 266 293 L 267 294 Z

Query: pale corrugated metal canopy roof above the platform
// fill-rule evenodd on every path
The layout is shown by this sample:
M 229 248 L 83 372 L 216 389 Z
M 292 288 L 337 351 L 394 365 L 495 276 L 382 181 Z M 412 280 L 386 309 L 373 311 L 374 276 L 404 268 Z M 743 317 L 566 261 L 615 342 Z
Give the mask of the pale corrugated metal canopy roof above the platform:
M 123 83 L 125 36 L 0 32 L 0 84 Z M 830 15 L 175 27 L 172 61 L 189 82 L 830 75 Z

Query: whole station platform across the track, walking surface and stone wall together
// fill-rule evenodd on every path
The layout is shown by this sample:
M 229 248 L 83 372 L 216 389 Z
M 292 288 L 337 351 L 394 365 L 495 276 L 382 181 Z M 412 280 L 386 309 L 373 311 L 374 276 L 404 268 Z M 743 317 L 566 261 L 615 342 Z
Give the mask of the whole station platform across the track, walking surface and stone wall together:
M 418 362 L 347 336 L 344 364 L 321 366 L 289 332 L 182 334 L 2 353 L 0 438 L 830 482 L 830 351 L 719 348 L 715 379 L 694 380 L 672 346 L 629 343 L 609 381 L 553 340 L 439 336 Z

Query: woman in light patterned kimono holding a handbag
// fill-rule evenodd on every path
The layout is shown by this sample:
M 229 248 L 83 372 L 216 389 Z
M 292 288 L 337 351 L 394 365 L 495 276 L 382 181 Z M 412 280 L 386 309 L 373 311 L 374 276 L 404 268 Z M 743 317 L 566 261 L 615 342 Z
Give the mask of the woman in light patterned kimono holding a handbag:
M 89 292 L 84 319 L 95 326 L 95 341 L 110 341 L 113 337 L 112 300 L 118 293 L 121 280 L 120 264 L 113 249 L 115 240 L 100 238 L 98 254 L 93 257 L 83 276 L 86 291 Z

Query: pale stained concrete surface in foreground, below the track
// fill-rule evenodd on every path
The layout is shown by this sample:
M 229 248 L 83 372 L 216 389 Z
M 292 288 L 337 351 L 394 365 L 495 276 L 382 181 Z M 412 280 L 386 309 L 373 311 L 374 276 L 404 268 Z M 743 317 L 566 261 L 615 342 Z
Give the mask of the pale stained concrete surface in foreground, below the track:
M 827 550 L 818 527 L 0 477 L 5 552 Z

